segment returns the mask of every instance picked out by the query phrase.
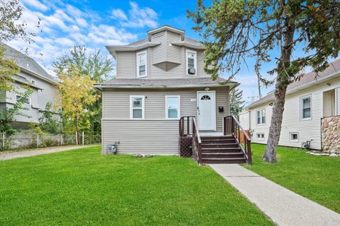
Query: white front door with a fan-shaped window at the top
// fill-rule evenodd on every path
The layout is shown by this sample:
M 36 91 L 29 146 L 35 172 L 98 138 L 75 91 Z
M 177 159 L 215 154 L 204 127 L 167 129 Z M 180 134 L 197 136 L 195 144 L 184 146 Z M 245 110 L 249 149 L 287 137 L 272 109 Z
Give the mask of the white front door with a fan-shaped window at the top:
M 199 130 L 216 130 L 215 91 L 197 93 L 197 114 Z

